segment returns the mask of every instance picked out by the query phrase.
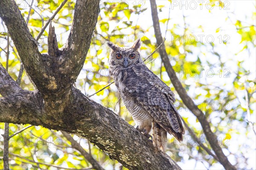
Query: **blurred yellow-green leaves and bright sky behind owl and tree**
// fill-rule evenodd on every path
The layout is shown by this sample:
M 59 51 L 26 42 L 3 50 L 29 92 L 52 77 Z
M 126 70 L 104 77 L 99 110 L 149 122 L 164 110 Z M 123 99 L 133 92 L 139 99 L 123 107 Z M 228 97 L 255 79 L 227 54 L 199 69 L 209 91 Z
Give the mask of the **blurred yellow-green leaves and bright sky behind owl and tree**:
M 17 0 L 25 20 L 32 4 L 28 28 L 34 37 L 39 34 L 61 2 L 34 0 L 32 3 L 32 0 Z M 160 27 L 163 37 L 166 38 L 165 45 L 170 62 L 189 96 L 207 116 L 211 129 L 218 136 L 219 144 L 230 162 L 239 169 L 256 169 L 255 2 L 194 1 L 196 8 L 192 1 L 183 2 L 185 5 L 181 6 L 181 1 L 157 1 Z M 68 0 L 52 20 L 59 48 L 64 45 L 70 33 L 74 6 L 75 1 Z M 131 46 L 134 40 L 141 38 L 143 59 L 157 48 L 149 1 L 101 1 L 100 8 L 90 50 L 74 84 L 87 96 L 113 82 L 108 74 L 110 49 L 105 45 L 106 40 L 120 46 Z M 0 62 L 5 66 L 8 33 L 2 20 L 0 24 Z M 48 28 L 38 40 L 41 53 L 47 53 L 47 36 Z M 20 57 L 12 40 L 9 51 L 8 71 L 17 79 Z M 200 123 L 177 95 L 159 54 L 154 53 L 145 63 L 174 91 L 177 98 L 175 106 L 180 115 L 196 136 L 211 149 Z M 20 86 L 26 90 L 35 90 L 25 71 Z M 129 124 L 135 125 L 114 84 L 90 96 L 90 99 L 111 109 Z M 27 126 L 29 125 L 10 124 L 9 135 Z M 3 127 L 4 123 L 1 123 L 1 134 Z M 86 139 L 76 135 L 73 138 L 105 169 L 126 169 Z M 71 143 L 61 132 L 41 126 L 29 127 L 13 136 L 9 142 L 9 152 L 10 169 L 13 170 L 91 167 L 71 147 Z M 169 135 L 166 153 L 182 169 L 223 169 L 218 161 L 195 144 L 188 132 L 180 144 Z M 3 156 L 2 136 L 0 156 Z M 2 161 L 0 169 L 3 169 Z

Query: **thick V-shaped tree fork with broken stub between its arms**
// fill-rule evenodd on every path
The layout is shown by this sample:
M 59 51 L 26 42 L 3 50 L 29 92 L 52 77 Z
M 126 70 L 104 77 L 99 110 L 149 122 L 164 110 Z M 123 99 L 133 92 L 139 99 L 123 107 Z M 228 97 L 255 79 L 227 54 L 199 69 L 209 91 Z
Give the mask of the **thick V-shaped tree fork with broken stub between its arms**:
M 64 2 L 61 5 L 64 5 Z M 37 48 L 38 42 L 30 34 L 15 0 L 2 0 L 0 3 L 0 17 L 5 22 L 36 88 L 44 97 L 49 97 L 47 94 L 55 94 L 60 98 L 68 98 L 70 88 L 81 71 L 90 47 L 91 36 L 99 14 L 99 0 L 76 1 L 73 26 L 64 48 L 64 55 L 57 49 L 52 27 L 50 27 L 48 41 L 50 55 L 41 55 Z

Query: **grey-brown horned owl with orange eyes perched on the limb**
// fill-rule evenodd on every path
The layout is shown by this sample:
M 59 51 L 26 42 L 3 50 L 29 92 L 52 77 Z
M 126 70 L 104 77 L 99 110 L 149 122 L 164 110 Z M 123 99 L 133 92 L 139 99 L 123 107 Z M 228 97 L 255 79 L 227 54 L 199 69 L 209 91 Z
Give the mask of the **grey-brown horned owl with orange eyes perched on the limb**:
M 131 48 L 119 47 L 107 42 L 112 49 L 109 57 L 109 72 L 131 113 L 137 129 L 145 136 L 153 126 L 153 144 L 165 151 L 167 132 L 182 141 L 185 130 L 180 116 L 172 105 L 175 102 L 171 89 L 144 64 L 140 56 L 141 41 Z

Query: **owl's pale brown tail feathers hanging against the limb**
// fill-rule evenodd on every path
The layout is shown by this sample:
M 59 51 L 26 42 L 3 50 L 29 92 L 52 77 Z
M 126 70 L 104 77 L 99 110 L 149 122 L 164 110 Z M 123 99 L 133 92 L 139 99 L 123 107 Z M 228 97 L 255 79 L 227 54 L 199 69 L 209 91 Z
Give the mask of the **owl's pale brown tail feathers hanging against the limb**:
M 157 122 L 153 121 L 153 144 L 158 150 L 166 151 L 167 132 Z

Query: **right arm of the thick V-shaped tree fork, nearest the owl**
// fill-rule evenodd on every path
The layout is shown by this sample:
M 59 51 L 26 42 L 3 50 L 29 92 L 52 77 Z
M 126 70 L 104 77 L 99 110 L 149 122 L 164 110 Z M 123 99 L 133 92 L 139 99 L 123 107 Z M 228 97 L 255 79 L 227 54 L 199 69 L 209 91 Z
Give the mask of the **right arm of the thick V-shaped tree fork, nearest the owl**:
M 99 0 L 76 1 L 72 28 L 64 47 L 64 57 L 60 58 L 61 73 L 68 74 L 72 85 L 83 67 L 99 11 Z

